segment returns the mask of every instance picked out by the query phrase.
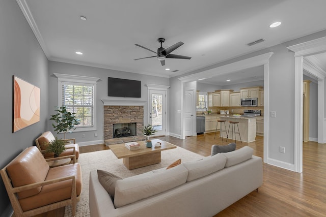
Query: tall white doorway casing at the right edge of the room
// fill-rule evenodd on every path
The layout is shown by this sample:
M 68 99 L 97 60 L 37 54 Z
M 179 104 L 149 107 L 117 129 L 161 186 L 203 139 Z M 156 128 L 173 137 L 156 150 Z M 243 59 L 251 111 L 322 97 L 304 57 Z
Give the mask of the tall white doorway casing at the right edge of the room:
M 309 71 L 318 78 L 318 143 L 326 143 L 322 134 L 326 129 L 324 116 L 324 80 L 325 73 L 309 68 L 304 56 L 326 52 L 326 37 L 287 47 L 294 52 L 294 171 L 303 171 L 303 71 Z

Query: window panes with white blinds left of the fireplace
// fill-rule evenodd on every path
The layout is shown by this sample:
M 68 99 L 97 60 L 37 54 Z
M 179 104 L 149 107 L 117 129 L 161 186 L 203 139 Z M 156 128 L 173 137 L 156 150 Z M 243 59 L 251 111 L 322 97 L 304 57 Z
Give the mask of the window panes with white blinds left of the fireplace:
M 62 105 L 76 113 L 80 119 L 78 128 L 93 127 L 94 123 L 94 85 L 62 83 Z

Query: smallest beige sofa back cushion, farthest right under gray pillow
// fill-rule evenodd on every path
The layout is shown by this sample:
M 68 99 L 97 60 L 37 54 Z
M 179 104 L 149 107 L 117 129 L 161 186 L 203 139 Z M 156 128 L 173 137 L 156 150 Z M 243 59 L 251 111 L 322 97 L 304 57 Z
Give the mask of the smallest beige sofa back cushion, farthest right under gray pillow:
M 225 167 L 231 167 L 233 165 L 239 164 L 243 161 L 247 161 L 252 158 L 254 149 L 249 146 L 244 146 L 235 151 L 222 153 L 226 158 Z

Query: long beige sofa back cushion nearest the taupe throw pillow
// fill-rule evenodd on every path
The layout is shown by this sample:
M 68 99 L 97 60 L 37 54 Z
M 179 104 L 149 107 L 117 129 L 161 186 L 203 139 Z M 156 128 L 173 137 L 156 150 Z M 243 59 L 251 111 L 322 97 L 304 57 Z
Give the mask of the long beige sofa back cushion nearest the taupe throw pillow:
M 180 164 L 164 172 L 117 180 L 114 205 L 118 208 L 168 191 L 185 183 L 187 176 L 188 170 Z

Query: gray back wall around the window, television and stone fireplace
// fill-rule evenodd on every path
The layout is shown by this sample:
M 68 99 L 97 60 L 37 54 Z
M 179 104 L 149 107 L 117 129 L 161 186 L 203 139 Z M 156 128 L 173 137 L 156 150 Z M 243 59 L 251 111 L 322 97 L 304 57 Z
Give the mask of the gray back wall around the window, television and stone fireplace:
M 98 77 L 100 81 L 97 82 L 97 129 L 96 131 L 86 131 L 86 132 L 73 132 L 72 134 L 66 135 L 67 138 L 76 138 L 78 143 L 80 142 L 91 142 L 94 140 L 103 139 L 103 102 L 101 99 L 108 100 L 141 100 L 147 101 L 147 86 L 146 84 L 159 84 L 159 85 L 169 85 L 169 78 L 162 78 L 156 76 L 142 75 L 129 72 L 121 72 L 116 70 L 101 69 L 95 67 L 81 66 L 75 64 L 60 63 L 56 61 L 49 61 L 49 107 L 48 112 L 52 114 L 55 106 L 58 106 L 58 78 L 53 75 L 53 73 L 59 74 L 69 74 L 69 75 L 80 75 L 89 77 Z M 107 77 L 124 78 L 131 80 L 141 80 L 141 98 L 121 98 L 121 97 L 108 97 L 107 96 Z M 169 92 L 169 90 L 168 90 Z M 147 104 L 144 106 L 144 113 L 147 113 Z M 147 123 L 147 115 L 144 116 L 144 123 Z M 48 130 L 53 132 L 51 124 L 47 125 Z M 94 133 L 97 132 L 97 137 Z M 53 132 L 55 133 L 55 132 Z M 85 138 L 82 138 L 82 134 L 85 134 Z M 59 138 L 63 135 L 55 134 Z

